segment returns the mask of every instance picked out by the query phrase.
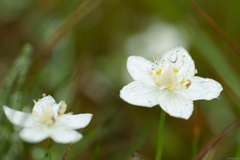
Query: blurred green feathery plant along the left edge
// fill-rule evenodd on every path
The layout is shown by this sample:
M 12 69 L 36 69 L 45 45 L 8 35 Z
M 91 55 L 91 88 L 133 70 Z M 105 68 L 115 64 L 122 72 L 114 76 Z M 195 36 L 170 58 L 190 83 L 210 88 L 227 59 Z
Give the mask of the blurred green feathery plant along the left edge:
M 12 108 L 21 108 L 23 93 L 20 89 L 24 83 L 29 68 L 31 50 L 31 45 L 25 44 L 23 46 L 22 53 L 16 59 L 10 72 L 5 78 L 0 92 L 1 106 L 10 104 Z M 16 137 L 16 132 L 12 132 L 13 129 L 8 120 L 6 120 L 2 108 L 0 118 L 0 139 L 2 142 L 0 147 L 0 157 L 3 159 L 15 159 L 16 155 L 23 151 L 23 146 L 21 145 L 19 138 Z

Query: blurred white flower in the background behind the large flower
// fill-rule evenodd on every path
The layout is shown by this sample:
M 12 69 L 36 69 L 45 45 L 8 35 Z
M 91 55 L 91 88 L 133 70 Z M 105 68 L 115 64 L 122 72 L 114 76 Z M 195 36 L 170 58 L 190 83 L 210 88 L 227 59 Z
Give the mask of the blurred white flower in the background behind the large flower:
M 152 22 L 143 32 L 132 35 L 127 39 L 125 52 L 137 53 L 147 57 L 148 53 L 164 53 L 176 46 L 188 47 L 187 36 L 180 27 L 165 22 Z M 161 56 L 161 55 L 160 55 Z

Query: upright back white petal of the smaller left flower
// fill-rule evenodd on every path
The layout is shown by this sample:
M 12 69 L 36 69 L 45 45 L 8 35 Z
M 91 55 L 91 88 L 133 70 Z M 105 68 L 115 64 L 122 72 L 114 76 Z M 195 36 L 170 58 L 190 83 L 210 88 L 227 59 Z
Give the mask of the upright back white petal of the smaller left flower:
M 56 102 L 53 99 L 53 97 L 50 95 L 45 96 L 42 99 L 40 99 L 37 103 L 35 103 L 33 107 L 33 112 L 36 112 L 36 114 L 41 115 L 43 112 L 42 108 L 45 108 L 51 104 L 56 105 Z

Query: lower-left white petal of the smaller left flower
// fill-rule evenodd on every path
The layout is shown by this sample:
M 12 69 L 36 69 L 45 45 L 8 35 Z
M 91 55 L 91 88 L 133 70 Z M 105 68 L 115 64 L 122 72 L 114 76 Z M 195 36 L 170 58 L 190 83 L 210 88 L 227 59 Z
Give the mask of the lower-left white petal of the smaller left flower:
M 20 131 L 20 137 L 29 143 L 38 143 L 48 138 L 51 130 L 46 125 L 39 125 L 32 128 L 24 128 Z

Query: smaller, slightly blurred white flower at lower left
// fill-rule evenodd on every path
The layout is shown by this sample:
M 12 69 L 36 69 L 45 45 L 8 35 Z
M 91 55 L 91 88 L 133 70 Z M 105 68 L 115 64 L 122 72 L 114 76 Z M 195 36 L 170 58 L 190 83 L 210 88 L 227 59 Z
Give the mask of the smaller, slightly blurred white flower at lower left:
M 8 119 L 14 125 L 24 127 L 19 135 L 29 143 L 37 143 L 48 137 L 57 143 L 79 141 L 82 135 L 74 129 L 86 127 L 92 114 L 64 114 L 66 108 L 64 101 L 57 104 L 50 95 L 35 102 L 32 114 L 3 106 Z

